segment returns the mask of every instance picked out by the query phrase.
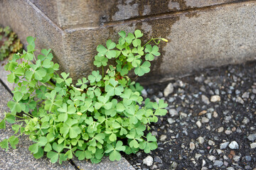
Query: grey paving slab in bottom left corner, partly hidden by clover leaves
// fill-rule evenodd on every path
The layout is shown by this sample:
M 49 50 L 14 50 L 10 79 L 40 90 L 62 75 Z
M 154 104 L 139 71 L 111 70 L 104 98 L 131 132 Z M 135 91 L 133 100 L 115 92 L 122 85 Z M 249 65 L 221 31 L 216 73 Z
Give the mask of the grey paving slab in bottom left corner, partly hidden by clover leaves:
M 4 86 L 0 83 L 0 120 L 4 118 L 4 112 L 9 112 L 7 102 L 12 98 Z M 14 132 L 11 130 L 11 124 L 6 125 L 6 130 L 0 130 L 0 141 L 11 137 Z M 19 143 L 16 149 L 9 149 L 6 152 L 0 148 L 0 169 L 74 169 L 69 162 L 63 164 L 51 164 L 50 160 L 44 156 L 41 159 L 35 159 L 28 150 L 31 141 L 27 136 L 19 137 Z

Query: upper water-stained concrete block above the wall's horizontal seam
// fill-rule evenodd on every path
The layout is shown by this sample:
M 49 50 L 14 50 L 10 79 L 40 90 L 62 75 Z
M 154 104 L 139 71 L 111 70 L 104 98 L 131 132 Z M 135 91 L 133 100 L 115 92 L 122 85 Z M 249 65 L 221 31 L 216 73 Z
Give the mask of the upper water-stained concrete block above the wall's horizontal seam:
M 60 28 L 82 25 L 100 26 L 103 23 L 135 17 L 225 4 L 235 0 L 30 0 Z M 72 12 L 70 12 L 72 11 Z

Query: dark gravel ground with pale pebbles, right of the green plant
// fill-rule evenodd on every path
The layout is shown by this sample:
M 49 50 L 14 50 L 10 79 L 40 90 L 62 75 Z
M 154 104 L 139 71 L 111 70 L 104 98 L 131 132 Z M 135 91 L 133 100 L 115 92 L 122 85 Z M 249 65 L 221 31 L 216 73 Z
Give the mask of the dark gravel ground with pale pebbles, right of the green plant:
M 157 149 L 123 154 L 135 169 L 256 170 L 256 62 L 144 87 L 169 113 L 150 125 Z

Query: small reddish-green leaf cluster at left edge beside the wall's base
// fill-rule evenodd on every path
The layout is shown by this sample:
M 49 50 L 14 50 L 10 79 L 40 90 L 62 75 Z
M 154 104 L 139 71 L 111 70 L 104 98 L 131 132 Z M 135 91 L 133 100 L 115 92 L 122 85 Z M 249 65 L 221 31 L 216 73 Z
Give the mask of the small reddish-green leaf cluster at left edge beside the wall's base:
M 22 50 L 21 41 L 9 26 L 0 27 L 0 61 Z

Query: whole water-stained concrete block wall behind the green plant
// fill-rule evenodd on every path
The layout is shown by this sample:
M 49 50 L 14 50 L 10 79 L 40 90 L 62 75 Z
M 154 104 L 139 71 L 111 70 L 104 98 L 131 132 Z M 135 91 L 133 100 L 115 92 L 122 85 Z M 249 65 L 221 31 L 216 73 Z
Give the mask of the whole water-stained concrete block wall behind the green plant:
M 78 79 L 95 67 L 96 47 L 136 29 L 166 38 L 146 77 L 148 83 L 255 60 L 256 1 L 234 0 L 2 0 L 0 24 L 22 42 L 36 36 L 65 72 Z

